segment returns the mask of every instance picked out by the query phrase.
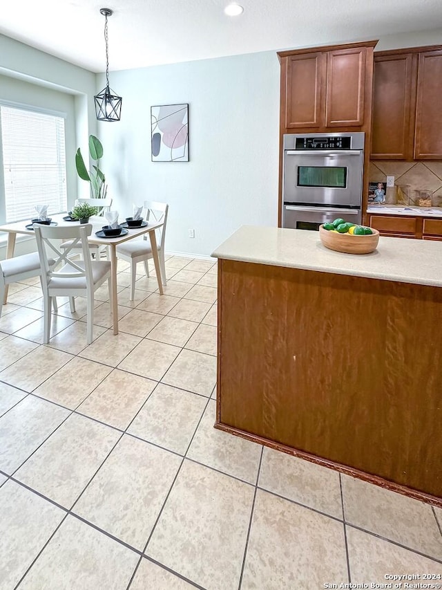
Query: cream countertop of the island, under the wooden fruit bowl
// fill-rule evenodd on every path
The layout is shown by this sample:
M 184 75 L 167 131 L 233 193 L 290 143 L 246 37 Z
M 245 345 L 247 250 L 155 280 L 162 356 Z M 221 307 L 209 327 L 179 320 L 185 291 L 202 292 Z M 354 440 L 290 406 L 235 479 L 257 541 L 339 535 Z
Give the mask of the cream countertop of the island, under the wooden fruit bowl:
M 242 225 L 212 256 L 320 273 L 442 286 L 441 241 L 380 237 L 374 252 L 354 255 L 325 248 L 318 232 Z

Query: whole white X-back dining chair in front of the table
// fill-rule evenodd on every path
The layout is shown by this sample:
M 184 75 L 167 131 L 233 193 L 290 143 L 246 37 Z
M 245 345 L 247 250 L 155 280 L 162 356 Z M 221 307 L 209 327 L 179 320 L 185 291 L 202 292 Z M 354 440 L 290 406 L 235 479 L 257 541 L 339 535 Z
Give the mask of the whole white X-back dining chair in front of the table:
M 52 297 L 69 297 L 70 311 L 75 311 L 74 297 L 86 297 L 87 304 L 87 342 L 93 340 L 94 293 L 108 279 L 111 298 L 111 262 L 91 260 L 88 255 L 88 236 L 92 225 L 53 227 L 35 225 L 35 237 L 41 264 L 41 288 L 44 299 L 44 343 L 48 344 L 50 335 L 50 306 Z M 70 239 L 71 248 L 60 248 L 59 240 Z M 83 260 L 69 258 L 71 250 L 81 248 Z M 55 264 L 50 265 L 48 252 L 53 252 Z M 63 265 L 60 267 L 60 265 Z M 111 301 L 112 308 L 112 301 Z

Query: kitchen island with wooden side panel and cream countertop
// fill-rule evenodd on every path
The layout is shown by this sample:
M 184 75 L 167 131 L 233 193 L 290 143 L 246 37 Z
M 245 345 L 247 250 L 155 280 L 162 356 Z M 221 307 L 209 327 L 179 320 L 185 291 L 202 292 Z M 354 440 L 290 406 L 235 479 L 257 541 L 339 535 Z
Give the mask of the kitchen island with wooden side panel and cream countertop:
M 215 427 L 442 506 L 442 244 L 243 226 L 213 256 Z

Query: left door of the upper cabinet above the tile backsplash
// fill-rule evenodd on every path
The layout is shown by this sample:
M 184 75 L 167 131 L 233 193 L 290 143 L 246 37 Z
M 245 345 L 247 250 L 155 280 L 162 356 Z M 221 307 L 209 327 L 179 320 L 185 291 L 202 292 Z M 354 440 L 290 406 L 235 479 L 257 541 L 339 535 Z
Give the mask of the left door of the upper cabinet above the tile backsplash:
M 416 95 L 416 56 L 374 58 L 371 158 L 412 158 Z

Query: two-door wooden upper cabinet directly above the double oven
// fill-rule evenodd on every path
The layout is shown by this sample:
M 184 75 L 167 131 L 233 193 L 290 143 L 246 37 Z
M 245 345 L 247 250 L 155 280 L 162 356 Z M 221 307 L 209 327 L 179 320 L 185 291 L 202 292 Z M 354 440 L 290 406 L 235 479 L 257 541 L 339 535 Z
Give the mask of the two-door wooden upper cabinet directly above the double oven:
M 371 122 L 374 42 L 278 53 L 281 131 L 363 131 Z M 355 129 L 356 128 L 356 129 Z

